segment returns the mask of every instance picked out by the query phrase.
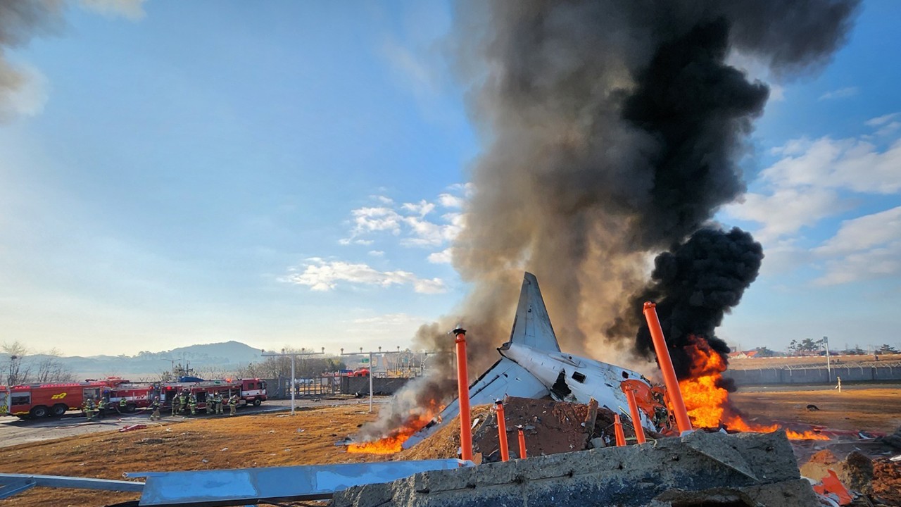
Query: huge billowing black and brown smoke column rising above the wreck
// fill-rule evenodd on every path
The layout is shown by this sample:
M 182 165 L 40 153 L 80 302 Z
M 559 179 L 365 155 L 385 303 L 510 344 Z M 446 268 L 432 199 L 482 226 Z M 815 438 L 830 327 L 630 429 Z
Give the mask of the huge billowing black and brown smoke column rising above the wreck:
M 481 373 L 508 336 L 523 270 L 541 281 L 564 350 L 634 364 L 648 346 L 643 334 L 636 344 L 642 301 L 631 297 L 644 294 L 660 303 L 670 339 L 713 337 L 762 259 L 750 235 L 710 226 L 744 192 L 738 161 L 769 95 L 730 58 L 777 78 L 815 70 L 842 45 L 857 4 L 463 4 L 455 38 L 484 152 L 453 252 L 473 290 L 420 343 L 447 348 L 461 321 L 470 376 Z M 673 245 L 645 289 L 651 257 Z

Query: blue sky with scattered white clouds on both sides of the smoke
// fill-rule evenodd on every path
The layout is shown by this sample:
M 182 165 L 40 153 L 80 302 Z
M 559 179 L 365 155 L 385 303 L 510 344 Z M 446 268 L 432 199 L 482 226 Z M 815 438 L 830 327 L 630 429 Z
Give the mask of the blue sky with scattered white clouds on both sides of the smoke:
M 393 349 L 463 299 L 451 5 L 241 5 L 71 4 L 6 52 L 32 79 L 0 108 L 0 341 Z M 831 65 L 774 83 L 717 216 L 767 254 L 730 343 L 901 345 L 899 24 L 867 2 Z

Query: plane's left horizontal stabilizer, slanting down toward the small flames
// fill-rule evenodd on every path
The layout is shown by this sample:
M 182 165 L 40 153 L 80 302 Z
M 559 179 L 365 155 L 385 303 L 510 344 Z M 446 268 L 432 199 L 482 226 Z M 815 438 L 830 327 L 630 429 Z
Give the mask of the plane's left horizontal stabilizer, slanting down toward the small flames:
M 469 386 L 469 405 L 484 405 L 503 400 L 505 396 L 519 398 L 544 398 L 551 392 L 532 373 L 506 357 L 501 358 L 478 380 Z M 439 418 L 441 422 L 428 428 L 421 429 L 404 442 L 404 448 L 408 449 L 429 437 L 451 419 L 460 413 L 460 401 L 454 400 L 450 405 L 441 410 Z

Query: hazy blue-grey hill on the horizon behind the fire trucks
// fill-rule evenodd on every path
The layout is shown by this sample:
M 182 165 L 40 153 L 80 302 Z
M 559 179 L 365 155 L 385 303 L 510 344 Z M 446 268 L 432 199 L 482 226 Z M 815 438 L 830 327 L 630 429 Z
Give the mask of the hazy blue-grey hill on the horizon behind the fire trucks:
M 137 355 L 78 355 L 59 357 L 59 362 L 76 374 L 78 379 L 122 376 L 131 380 L 150 378 L 172 369 L 175 364 L 189 364 L 197 373 L 215 369 L 231 373 L 248 363 L 259 361 L 259 348 L 236 341 L 192 345 L 162 352 L 141 351 Z M 28 355 L 25 362 L 38 363 L 46 355 Z M 9 355 L 0 354 L 0 364 Z

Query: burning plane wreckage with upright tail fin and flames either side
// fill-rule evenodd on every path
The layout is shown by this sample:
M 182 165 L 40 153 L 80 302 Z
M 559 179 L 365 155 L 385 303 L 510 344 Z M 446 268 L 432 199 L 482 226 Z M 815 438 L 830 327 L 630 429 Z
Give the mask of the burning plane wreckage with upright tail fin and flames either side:
M 596 404 L 617 416 L 627 416 L 633 428 L 665 436 L 692 428 L 730 432 L 779 429 L 778 425 L 751 423 L 733 409 L 723 387 L 724 358 L 703 337 L 691 338 L 687 347 L 692 358 L 689 376 L 677 379 L 660 326 L 653 324 L 657 320 L 654 305 L 646 304 L 644 310 L 651 334 L 656 335 L 666 385 L 651 383 L 633 370 L 562 352 L 538 280 L 526 272 L 510 339 L 497 348 L 501 358 L 469 385 L 469 404 L 487 405 L 505 398 Z M 460 415 L 459 397 L 443 409 L 434 399 L 425 404 L 400 419 L 387 435 L 350 443 L 348 450 L 393 454 L 423 442 Z M 815 430 L 786 429 L 786 433 L 790 439 L 828 439 Z

